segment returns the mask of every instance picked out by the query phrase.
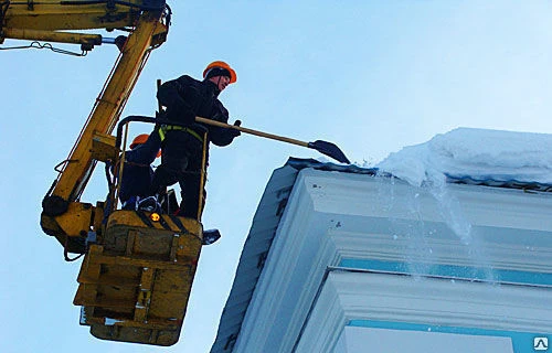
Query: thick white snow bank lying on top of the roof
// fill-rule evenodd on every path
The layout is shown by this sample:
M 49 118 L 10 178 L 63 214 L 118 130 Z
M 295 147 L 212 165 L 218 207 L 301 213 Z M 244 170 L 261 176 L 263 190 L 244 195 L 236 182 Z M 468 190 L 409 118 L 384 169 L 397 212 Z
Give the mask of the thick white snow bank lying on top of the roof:
M 412 185 L 552 184 L 552 135 L 457 128 L 391 153 L 376 168 Z

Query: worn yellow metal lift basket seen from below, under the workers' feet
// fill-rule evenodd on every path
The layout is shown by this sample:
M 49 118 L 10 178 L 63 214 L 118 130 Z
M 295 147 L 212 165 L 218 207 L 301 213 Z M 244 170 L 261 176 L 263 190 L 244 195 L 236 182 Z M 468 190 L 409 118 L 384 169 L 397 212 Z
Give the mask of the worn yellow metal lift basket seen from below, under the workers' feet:
M 174 344 L 180 335 L 201 252 L 195 220 L 161 215 L 150 222 L 116 211 L 102 245 L 92 245 L 78 275 L 74 303 L 82 324 L 104 340 Z

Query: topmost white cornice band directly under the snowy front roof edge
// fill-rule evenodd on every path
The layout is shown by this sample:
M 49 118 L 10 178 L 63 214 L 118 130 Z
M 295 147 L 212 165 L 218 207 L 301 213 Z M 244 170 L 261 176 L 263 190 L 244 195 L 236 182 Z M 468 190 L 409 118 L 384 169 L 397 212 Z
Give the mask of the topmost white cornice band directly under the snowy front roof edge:
M 320 213 L 446 222 L 448 213 L 454 212 L 461 217 L 456 221 L 471 225 L 552 228 L 552 217 L 548 216 L 552 210 L 550 193 L 460 184 L 432 190 L 390 178 L 312 169 L 301 174 L 314 211 Z

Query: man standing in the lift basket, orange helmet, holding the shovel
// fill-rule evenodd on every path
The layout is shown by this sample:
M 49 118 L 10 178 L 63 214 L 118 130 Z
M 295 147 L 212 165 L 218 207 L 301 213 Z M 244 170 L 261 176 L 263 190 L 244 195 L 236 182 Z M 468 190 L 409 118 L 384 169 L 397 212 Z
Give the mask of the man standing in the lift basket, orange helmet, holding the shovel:
M 236 81 L 236 73 L 229 64 L 215 61 L 203 71 L 203 81 L 183 75 L 166 82 L 157 92 L 159 104 L 166 107 L 160 117 L 169 124 L 163 124 L 160 129 L 162 158 L 153 175 L 152 193 L 160 193 L 178 182 L 182 196 L 179 216 L 198 218 L 204 206 L 200 205 L 204 138 L 208 159 L 209 142 L 229 146 L 240 136 L 236 129 L 195 122 L 197 116 L 229 121 L 229 110 L 219 100 L 219 95 Z M 178 125 L 170 124 L 172 121 Z M 240 125 L 240 120 L 235 125 Z M 206 194 L 205 190 L 202 192 Z

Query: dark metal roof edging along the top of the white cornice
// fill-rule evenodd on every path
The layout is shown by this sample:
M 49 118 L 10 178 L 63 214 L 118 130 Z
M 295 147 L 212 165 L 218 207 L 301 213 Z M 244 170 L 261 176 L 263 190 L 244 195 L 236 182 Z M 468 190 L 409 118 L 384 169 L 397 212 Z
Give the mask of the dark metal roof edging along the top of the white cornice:
M 394 178 L 376 168 L 361 168 L 314 159 L 289 158 L 286 164 L 276 169 L 261 199 L 253 224 L 245 240 L 234 284 L 221 315 L 215 342 L 211 353 L 229 353 L 233 351 L 240 334 L 243 320 L 250 306 L 257 280 L 263 271 L 265 260 L 279 225 L 280 217 L 287 205 L 287 200 L 300 170 L 312 168 L 321 171 L 344 172 L 355 174 Z M 541 192 L 552 192 L 552 185 L 541 183 L 523 183 L 517 181 L 477 180 L 470 176 L 445 175 L 447 183 L 486 185 L 493 188 L 522 189 Z

